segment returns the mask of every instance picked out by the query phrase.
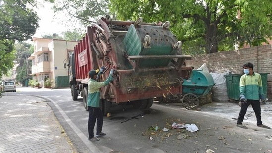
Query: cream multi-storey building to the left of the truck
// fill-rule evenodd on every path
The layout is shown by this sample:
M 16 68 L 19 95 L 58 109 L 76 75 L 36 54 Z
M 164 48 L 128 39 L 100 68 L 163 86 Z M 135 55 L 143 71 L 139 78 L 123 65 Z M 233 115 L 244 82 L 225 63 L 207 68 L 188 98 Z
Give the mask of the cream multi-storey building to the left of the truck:
M 64 62 L 74 51 L 75 41 L 58 39 L 32 38 L 34 53 L 28 58 L 32 60 L 32 80 L 44 87 L 47 79 L 55 81 L 57 77 L 68 76 L 68 70 L 64 68 Z M 55 83 L 51 85 L 55 88 Z

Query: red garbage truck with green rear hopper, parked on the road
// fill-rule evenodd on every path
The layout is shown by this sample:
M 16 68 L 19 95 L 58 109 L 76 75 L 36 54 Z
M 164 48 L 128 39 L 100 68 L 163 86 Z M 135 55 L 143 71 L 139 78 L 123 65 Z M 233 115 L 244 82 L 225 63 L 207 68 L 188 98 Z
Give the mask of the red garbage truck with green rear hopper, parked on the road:
M 184 67 L 190 55 L 181 52 L 181 41 L 169 30 L 170 23 L 117 21 L 102 17 L 87 27 L 85 37 L 74 47 L 67 64 L 73 100 L 83 97 L 86 110 L 88 72 L 101 66 L 106 70 L 99 81 L 105 81 L 112 68 L 114 81 L 100 89 L 100 108 L 104 115 L 111 104 L 131 103 L 140 109 L 150 108 L 155 97 L 182 93 Z

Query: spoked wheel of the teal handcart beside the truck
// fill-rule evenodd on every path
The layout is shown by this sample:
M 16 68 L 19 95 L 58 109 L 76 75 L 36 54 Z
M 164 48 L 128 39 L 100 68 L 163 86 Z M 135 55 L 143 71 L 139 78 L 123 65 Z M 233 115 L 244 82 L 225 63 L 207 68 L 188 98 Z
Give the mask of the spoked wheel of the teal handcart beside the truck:
M 199 106 L 199 99 L 195 94 L 188 93 L 182 98 L 183 106 L 188 110 L 194 110 Z

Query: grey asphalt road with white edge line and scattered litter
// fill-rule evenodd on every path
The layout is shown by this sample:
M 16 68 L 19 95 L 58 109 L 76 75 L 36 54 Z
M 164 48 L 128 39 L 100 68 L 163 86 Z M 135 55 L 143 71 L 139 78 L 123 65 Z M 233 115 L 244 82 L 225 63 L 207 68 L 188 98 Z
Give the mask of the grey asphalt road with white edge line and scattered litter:
M 149 110 L 135 110 L 131 105 L 112 105 L 112 116 L 104 117 L 106 136 L 88 141 L 88 112 L 82 99 L 73 101 L 70 89 L 33 89 L 17 87 L 16 93 L 47 99 L 55 116 L 79 153 L 269 153 L 272 129 L 256 126 L 252 108 L 244 125 L 236 127 L 238 104 L 213 102 L 190 111 L 179 103 L 154 103 Z M 262 106 L 263 123 L 272 127 L 272 105 Z M 136 116 L 136 117 L 135 117 Z M 132 118 L 134 117 L 134 118 Z M 172 123 L 195 124 L 197 132 L 173 129 Z M 158 130 L 155 127 L 158 126 Z M 163 128 L 170 131 L 164 132 Z

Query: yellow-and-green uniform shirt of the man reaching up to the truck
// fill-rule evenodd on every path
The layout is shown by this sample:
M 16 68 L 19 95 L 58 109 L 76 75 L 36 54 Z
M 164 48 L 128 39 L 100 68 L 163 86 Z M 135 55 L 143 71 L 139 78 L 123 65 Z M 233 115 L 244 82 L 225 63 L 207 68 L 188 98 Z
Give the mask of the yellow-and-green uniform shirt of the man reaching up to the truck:
M 100 100 L 100 88 L 104 87 L 109 84 L 110 81 L 113 80 L 112 75 L 109 75 L 107 80 L 104 82 L 97 82 L 96 80 L 90 79 L 88 81 L 88 99 L 87 99 L 87 105 L 89 107 L 99 107 L 99 100 Z

